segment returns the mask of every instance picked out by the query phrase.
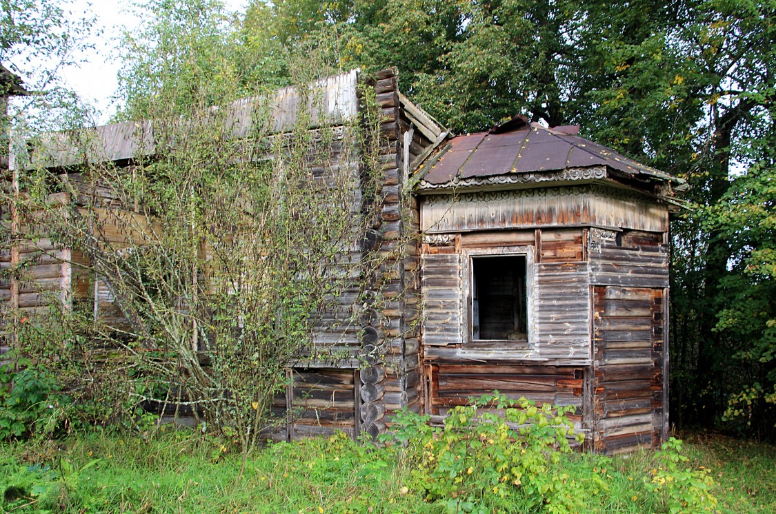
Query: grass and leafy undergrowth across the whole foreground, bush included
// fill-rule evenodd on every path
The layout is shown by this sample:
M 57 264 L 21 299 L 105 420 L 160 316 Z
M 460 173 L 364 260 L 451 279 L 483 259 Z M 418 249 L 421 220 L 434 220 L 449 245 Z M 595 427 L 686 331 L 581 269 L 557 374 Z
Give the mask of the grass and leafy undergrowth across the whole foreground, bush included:
M 517 431 L 501 418 L 471 417 L 473 409 L 452 412 L 438 429 L 406 413 L 397 439 L 384 446 L 340 433 L 256 447 L 245 460 L 233 441 L 147 419 L 123 431 L 6 445 L 3 508 L 695 513 L 776 506 L 776 450 L 767 445 L 712 436 L 684 445 L 672 439 L 657 453 L 603 457 L 563 450 L 562 413 L 528 405 L 522 412 L 538 429 Z M 511 407 L 504 409 L 511 416 Z M 552 425 L 539 428 L 541 419 Z

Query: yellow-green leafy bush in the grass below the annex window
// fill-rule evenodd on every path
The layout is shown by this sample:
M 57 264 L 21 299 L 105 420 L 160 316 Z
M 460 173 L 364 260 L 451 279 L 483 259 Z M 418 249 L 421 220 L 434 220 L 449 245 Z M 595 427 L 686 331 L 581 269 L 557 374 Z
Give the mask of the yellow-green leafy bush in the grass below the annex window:
M 586 489 L 603 485 L 583 486 L 559 466 L 569 439 L 582 440 L 566 417 L 572 410 L 494 392 L 456 406 L 443 428 L 400 412 L 383 440 L 407 446 L 413 488 L 449 512 L 579 512 Z

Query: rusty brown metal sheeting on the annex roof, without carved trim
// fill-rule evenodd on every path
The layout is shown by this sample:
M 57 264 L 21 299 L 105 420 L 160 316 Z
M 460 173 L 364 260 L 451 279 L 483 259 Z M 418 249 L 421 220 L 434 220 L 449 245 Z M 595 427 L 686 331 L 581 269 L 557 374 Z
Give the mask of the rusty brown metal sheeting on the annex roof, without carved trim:
M 577 126 L 548 129 L 515 116 L 488 132 L 454 137 L 428 163 L 430 169 L 422 181 L 438 187 L 468 178 L 606 166 L 620 178 L 681 183 L 670 174 L 576 136 L 577 131 Z

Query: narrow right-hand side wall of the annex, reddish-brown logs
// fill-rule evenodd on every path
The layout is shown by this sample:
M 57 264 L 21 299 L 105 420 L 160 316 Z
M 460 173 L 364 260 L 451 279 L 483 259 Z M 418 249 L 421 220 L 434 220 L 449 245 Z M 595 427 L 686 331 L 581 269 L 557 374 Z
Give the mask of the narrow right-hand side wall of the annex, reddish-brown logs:
M 667 233 L 591 232 L 597 451 L 659 447 L 667 438 Z

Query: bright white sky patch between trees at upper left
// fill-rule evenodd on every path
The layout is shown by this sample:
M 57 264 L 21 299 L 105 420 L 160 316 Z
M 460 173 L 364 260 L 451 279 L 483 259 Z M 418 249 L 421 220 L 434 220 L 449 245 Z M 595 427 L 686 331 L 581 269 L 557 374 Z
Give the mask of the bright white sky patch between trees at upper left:
M 244 12 L 248 0 L 223 0 L 227 9 Z M 140 24 L 133 15 L 137 0 L 73 0 L 71 11 L 74 17 L 81 13 L 95 17 L 95 29 L 102 29 L 102 35 L 92 36 L 94 50 L 78 56 L 81 64 L 62 71 L 64 85 L 76 91 L 89 105 L 95 106 L 100 114 L 99 124 L 108 122 L 116 113 L 111 96 L 118 88 L 116 75 L 121 68 L 120 53 L 116 51 L 117 40 L 124 30 L 132 30 Z M 96 31 L 95 31 L 96 32 Z

